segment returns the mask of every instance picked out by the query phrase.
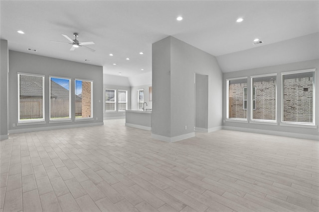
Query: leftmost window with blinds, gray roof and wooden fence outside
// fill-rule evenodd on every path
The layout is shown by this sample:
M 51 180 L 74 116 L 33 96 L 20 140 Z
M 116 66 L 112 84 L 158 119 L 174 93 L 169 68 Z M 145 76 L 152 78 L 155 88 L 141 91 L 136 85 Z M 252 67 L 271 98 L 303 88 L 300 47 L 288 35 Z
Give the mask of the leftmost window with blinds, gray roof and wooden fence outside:
M 18 122 L 44 121 L 44 76 L 18 73 Z

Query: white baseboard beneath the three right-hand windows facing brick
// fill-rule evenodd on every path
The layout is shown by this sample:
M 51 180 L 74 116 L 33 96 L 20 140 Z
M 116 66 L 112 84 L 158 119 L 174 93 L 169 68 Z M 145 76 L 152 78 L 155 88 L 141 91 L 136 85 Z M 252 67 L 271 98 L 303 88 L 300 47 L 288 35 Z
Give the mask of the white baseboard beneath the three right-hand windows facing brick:
M 222 129 L 223 130 L 234 130 L 234 131 L 248 132 L 248 133 L 266 134 L 266 135 L 273 135 L 273 136 L 285 136 L 285 137 L 291 137 L 291 138 L 297 138 L 297 139 L 310 139 L 310 140 L 319 141 L 319 136 L 300 134 L 300 133 L 287 133 L 287 132 L 281 132 L 281 131 L 259 130 L 259 129 L 230 127 L 230 126 L 223 126 Z

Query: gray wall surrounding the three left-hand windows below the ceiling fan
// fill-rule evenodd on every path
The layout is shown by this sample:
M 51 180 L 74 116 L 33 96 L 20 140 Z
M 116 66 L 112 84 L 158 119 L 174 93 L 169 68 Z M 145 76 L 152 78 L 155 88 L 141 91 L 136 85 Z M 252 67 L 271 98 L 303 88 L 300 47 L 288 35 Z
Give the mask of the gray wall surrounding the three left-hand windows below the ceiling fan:
M 19 125 L 12 127 L 18 121 L 18 90 L 17 72 L 45 75 L 45 124 Z M 49 123 L 49 75 L 71 78 L 71 108 L 74 111 L 75 78 L 93 80 L 93 120 L 74 122 Z M 88 64 L 65 61 L 55 58 L 37 56 L 21 52 L 9 51 L 9 133 L 32 130 L 56 129 L 71 126 L 103 125 L 103 68 Z

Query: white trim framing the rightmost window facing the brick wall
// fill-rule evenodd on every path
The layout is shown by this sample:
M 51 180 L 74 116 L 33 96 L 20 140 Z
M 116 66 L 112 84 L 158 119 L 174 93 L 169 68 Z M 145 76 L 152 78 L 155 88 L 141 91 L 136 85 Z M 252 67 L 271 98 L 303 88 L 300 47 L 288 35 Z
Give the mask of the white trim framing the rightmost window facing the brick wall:
M 294 74 L 294 73 L 305 73 L 305 72 L 315 72 L 314 74 L 314 82 L 315 85 L 313 87 L 313 123 L 303 123 L 303 122 L 286 122 L 283 121 L 283 113 L 284 113 L 284 92 L 283 92 L 283 88 L 284 88 L 284 83 L 283 83 L 283 75 L 287 75 L 287 74 Z M 289 126 L 289 127 L 303 127 L 303 128 L 317 128 L 316 125 L 316 107 L 315 107 L 315 103 L 316 103 L 316 69 L 305 69 L 305 70 L 300 70 L 300 71 L 285 71 L 285 72 L 281 72 L 281 122 L 280 122 L 280 126 Z M 277 101 L 276 101 L 277 102 Z

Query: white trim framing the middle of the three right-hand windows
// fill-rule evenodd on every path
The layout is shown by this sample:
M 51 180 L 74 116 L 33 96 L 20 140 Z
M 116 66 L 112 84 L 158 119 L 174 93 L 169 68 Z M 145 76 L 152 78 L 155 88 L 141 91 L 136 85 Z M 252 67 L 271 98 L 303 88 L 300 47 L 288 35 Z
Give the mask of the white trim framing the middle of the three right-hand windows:
M 261 74 L 261 75 L 253 75 L 253 76 L 250 76 L 250 79 L 251 79 L 251 93 L 253 93 L 253 87 L 256 87 L 256 86 L 253 86 L 253 78 L 258 78 L 258 77 L 266 77 L 266 76 L 276 76 L 276 117 L 275 117 L 275 120 L 264 120 L 264 119 L 253 119 L 251 118 L 251 120 L 249 121 L 249 123 L 252 123 L 252 124 L 270 124 L 270 125 L 278 125 L 278 122 L 277 122 L 277 73 L 268 73 L 268 74 Z M 251 101 L 253 101 L 253 95 L 251 95 Z M 256 110 L 256 88 L 255 88 L 255 109 Z M 251 110 L 251 114 L 250 114 L 250 117 L 254 117 L 254 110 Z

